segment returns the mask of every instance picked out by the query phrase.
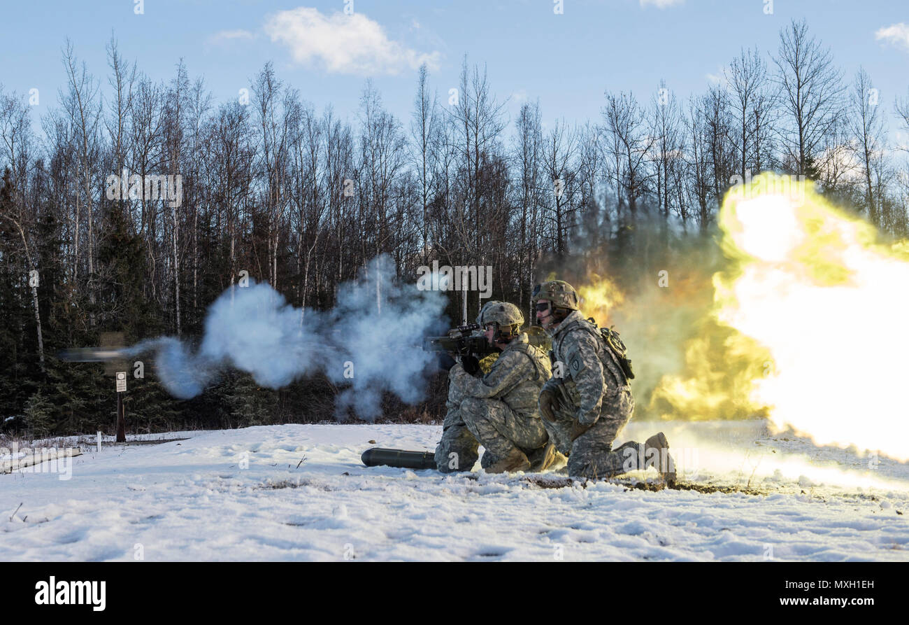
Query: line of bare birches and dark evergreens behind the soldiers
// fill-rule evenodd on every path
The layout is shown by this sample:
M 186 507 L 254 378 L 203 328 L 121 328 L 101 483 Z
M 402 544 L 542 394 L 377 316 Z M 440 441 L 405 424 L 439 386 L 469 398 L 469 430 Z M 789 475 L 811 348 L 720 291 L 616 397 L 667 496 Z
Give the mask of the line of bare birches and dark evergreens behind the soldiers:
M 743 49 L 704 93 L 683 100 L 662 81 L 639 99 L 605 85 L 600 116 L 575 124 L 544 123 L 538 101 L 509 119 L 486 67 L 466 56 L 447 97 L 419 69 L 409 118 L 367 80 L 355 119 L 342 119 L 332 106 L 316 111 L 271 63 L 217 103 L 182 60 L 155 82 L 114 38 L 106 52 L 96 76 L 66 42 L 65 86 L 40 129 L 27 96 L 0 86 L 8 430 L 112 428 L 112 380 L 56 351 L 111 330 L 128 341 L 198 336 L 207 305 L 240 276 L 297 307 L 328 308 L 379 254 L 408 281 L 434 260 L 492 266 L 493 296 L 529 318 L 546 267 L 640 258 L 634 225 L 644 218 L 708 232 L 735 176 L 767 170 L 816 180 L 885 235 L 909 230 L 909 166 L 886 123 L 909 130 L 909 97 L 885 98 L 864 69 L 844 76 L 804 22 L 786 25 L 769 54 Z M 145 182 L 162 176 L 179 176 L 176 201 L 149 192 Z M 449 297 L 453 322 L 482 304 L 475 293 Z M 435 384 L 444 389 L 444 378 Z M 128 405 L 140 430 L 236 427 L 325 418 L 336 390 L 325 379 L 258 388 L 229 373 L 176 401 L 151 375 Z M 389 399 L 386 411 L 437 419 L 439 395 L 416 407 Z

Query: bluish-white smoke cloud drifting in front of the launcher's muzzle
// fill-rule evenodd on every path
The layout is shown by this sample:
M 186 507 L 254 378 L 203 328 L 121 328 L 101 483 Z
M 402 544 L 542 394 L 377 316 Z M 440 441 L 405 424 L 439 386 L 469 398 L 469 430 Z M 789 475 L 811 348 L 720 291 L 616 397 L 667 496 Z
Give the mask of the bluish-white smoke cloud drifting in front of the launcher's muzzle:
M 226 290 L 208 309 L 205 334 L 195 351 L 177 338 L 153 338 L 129 349 L 155 351 L 161 382 L 177 398 L 205 390 L 225 368 L 250 373 L 256 383 L 281 388 L 323 372 L 349 385 L 336 400 L 343 415 L 381 414 L 384 391 L 407 403 L 423 398 L 435 358 L 423 337 L 441 334 L 445 297 L 395 281 L 389 257 L 373 259 L 356 280 L 338 287 L 329 311 L 301 310 L 265 283 Z

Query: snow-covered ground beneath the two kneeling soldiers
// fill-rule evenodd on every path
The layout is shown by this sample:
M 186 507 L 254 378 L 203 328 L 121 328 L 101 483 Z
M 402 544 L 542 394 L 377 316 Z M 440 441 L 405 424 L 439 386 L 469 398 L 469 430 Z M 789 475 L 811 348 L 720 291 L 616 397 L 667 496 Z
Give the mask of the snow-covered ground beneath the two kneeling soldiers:
M 681 485 L 719 491 L 629 488 L 660 484 L 652 470 L 541 488 L 478 465 L 469 479 L 360 462 L 374 446 L 434 449 L 437 426 L 80 439 L 70 479 L 0 475 L 0 560 L 909 560 L 909 465 L 761 421 L 659 427 Z M 633 422 L 617 442 L 654 431 Z

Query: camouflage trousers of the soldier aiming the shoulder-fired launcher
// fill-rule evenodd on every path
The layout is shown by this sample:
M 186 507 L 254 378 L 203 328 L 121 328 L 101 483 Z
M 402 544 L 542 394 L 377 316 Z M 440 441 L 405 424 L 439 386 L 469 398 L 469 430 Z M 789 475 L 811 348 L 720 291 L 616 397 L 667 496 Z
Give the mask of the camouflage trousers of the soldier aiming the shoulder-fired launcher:
M 435 465 L 440 471 L 473 469 L 480 445 L 486 449 L 481 462 L 484 469 L 515 448 L 527 453 L 545 445 L 543 419 L 525 417 L 498 399 L 464 398 L 454 387 L 449 387 L 442 440 L 435 448 Z

